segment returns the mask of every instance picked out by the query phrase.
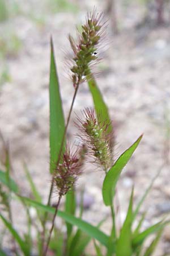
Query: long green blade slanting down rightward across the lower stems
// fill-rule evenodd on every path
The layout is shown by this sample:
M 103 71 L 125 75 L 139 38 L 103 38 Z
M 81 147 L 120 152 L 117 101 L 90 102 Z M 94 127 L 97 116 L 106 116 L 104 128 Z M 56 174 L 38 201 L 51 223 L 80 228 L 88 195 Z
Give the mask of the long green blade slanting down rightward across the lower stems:
M 32 207 L 35 207 L 36 209 L 44 210 L 45 212 L 49 212 L 54 214 L 55 208 L 49 207 L 43 204 L 40 204 L 36 201 L 33 201 L 27 197 L 22 197 L 22 199 L 25 201 L 25 203 L 28 203 Z M 88 234 L 88 236 L 95 238 L 97 241 L 99 241 L 102 245 L 107 246 L 108 245 L 108 236 L 101 232 L 97 227 L 92 226 L 90 223 L 81 220 L 80 218 L 76 218 L 74 216 L 71 216 L 71 214 L 62 212 L 61 210 L 58 210 L 59 217 L 63 218 L 63 220 L 69 222 L 71 225 L 77 226 L 80 230 L 82 230 L 84 233 Z

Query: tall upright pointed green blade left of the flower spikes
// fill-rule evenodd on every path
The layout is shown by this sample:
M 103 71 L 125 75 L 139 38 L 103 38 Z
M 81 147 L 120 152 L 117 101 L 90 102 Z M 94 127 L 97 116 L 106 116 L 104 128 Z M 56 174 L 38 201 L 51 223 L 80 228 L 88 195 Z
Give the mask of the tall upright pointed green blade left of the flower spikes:
M 62 101 L 59 92 L 59 82 L 54 57 L 53 40 L 51 44 L 50 60 L 50 82 L 49 82 L 49 101 L 50 101 L 50 173 L 53 172 L 53 164 L 57 162 L 61 148 L 63 135 L 65 132 L 65 119 L 62 109 Z

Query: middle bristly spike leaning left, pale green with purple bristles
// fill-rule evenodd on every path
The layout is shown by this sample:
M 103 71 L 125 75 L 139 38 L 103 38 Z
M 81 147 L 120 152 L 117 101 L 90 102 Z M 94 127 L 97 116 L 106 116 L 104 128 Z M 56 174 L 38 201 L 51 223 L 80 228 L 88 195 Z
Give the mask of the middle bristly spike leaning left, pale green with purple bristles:
M 109 123 L 97 121 L 94 109 L 83 110 L 83 119 L 78 118 L 76 126 L 82 131 L 80 139 L 90 148 L 95 158 L 104 171 L 107 172 L 113 164 L 112 133 L 108 133 Z

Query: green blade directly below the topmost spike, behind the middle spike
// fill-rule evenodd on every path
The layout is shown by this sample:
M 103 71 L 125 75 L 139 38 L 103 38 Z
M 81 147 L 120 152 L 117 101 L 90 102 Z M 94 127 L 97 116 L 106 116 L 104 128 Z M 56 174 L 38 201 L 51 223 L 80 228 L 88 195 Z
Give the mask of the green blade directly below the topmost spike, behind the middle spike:
M 108 133 L 113 130 L 111 119 L 109 117 L 108 107 L 103 100 L 103 96 L 97 86 L 94 76 L 92 73 L 90 74 L 90 78 L 87 79 L 88 86 L 90 88 L 90 92 L 94 101 L 94 106 L 97 114 L 97 119 L 101 122 L 109 123 Z

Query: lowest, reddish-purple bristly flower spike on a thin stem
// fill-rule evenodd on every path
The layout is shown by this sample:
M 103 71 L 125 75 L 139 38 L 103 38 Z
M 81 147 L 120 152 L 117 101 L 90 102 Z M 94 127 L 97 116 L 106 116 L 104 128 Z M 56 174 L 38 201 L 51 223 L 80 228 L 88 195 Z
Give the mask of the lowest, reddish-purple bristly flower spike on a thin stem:
M 54 170 L 54 184 L 59 196 L 66 195 L 70 189 L 73 189 L 75 181 L 82 174 L 85 153 L 84 145 L 75 151 L 71 150 L 69 146 L 66 147 L 62 156 L 62 163 Z

